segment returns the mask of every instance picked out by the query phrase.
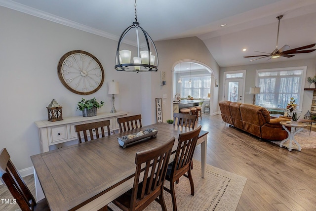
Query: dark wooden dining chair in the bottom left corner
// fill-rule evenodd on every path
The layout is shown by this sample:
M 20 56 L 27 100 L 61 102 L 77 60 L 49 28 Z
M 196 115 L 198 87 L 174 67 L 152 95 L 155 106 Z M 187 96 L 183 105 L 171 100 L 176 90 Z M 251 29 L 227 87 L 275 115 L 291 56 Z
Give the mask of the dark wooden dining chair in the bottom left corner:
M 36 202 L 30 189 L 10 160 L 5 148 L 0 152 L 0 176 L 22 211 L 49 211 L 46 198 Z

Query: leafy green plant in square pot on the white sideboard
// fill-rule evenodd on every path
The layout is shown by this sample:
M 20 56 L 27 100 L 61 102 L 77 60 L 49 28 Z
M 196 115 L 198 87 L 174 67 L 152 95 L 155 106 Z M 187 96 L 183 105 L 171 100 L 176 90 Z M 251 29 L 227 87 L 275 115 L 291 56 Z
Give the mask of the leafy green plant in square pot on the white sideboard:
M 104 105 L 104 102 L 100 103 L 93 97 L 92 99 L 85 100 L 81 98 L 81 101 L 78 102 L 77 110 L 82 111 L 83 117 L 92 117 L 97 116 L 97 108 L 101 108 Z

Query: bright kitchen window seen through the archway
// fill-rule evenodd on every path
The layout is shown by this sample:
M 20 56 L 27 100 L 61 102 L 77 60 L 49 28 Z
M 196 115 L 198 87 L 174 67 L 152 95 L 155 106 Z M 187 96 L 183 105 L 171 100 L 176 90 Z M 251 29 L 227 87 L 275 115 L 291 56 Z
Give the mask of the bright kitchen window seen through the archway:
M 207 98 L 210 93 L 211 78 L 210 76 L 191 77 L 191 84 L 189 84 L 190 77 L 182 77 L 181 96 L 192 96 L 194 98 Z

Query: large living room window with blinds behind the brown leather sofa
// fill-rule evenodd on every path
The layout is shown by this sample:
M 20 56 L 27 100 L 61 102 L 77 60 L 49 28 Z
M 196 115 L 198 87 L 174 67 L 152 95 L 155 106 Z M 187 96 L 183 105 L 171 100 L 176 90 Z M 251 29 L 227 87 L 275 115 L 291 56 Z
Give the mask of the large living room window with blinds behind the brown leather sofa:
M 293 97 L 299 110 L 303 101 L 305 75 L 306 67 L 257 70 L 256 86 L 260 87 L 260 93 L 256 95 L 256 105 L 285 109 Z

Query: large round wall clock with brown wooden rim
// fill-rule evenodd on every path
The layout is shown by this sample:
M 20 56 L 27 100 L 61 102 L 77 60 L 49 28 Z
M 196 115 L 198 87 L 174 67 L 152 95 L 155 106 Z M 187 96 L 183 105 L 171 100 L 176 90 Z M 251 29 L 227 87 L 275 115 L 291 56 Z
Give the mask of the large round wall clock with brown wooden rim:
M 63 55 L 57 71 L 61 83 L 76 94 L 92 94 L 101 88 L 104 81 L 104 70 L 99 60 L 82 50 Z

